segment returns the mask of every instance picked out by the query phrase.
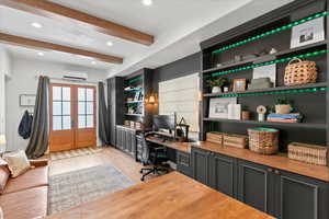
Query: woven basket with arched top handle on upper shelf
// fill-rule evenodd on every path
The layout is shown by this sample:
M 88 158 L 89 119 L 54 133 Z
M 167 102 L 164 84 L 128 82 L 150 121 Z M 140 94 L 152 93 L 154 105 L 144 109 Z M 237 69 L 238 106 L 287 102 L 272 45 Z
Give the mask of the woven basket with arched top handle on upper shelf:
M 295 60 L 298 62 L 293 64 Z M 284 84 L 298 85 L 305 83 L 315 83 L 317 77 L 318 72 L 315 61 L 302 61 L 298 58 L 294 58 L 285 67 Z

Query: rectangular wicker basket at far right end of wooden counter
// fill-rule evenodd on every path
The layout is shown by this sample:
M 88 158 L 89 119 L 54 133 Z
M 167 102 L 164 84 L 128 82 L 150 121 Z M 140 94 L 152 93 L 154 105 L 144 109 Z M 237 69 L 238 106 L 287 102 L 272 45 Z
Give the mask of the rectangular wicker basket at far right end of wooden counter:
M 292 142 L 288 145 L 288 158 L 306 163 L 327 165 L 327 148 L 315 145 Z

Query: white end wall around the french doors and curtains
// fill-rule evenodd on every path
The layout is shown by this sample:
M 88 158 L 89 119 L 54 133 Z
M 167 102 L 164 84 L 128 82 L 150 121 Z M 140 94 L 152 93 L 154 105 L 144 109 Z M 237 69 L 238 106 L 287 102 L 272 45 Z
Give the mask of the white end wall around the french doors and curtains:
M 13 57 L 12 73 L 7 80 L 7 126 L 5 134 L 8 139 L 7 150 L 25 149 L 27 140 L 23 140 L 19 134 L 18 128 L 22 115 L 25 110 L 33 112 L 32 108 L 20 107 L 20 94 L 35 94 L 37 89 L 36 76 L 48 76 L 50 78 L 61 77 L 68 71 L 83 71 L 88 73 L 88 81 L 103 81 L 106 78 L 106 71 L 89 69 L 84 67 L 69 66 L 65 64 L 56 64 L 41 60 L 30 60 L 25 58 Z M 58 82 L 58 80 L 50 80 L 50 82 Z M 61 81 L 63 82 L 63 81 Z M 86 83 L 88 84 L 88 83 Z M 97 84 L 92 84 L 97 85 Z M 98 127 L 98 126 L 97 126 Z M 98 138 L 98 145 L 100 140 Z

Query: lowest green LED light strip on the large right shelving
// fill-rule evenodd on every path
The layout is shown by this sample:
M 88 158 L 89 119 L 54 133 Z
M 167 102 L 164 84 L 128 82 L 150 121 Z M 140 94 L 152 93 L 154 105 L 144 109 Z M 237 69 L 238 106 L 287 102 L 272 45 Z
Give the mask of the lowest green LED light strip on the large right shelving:
M 260 96 L 260 95 L 277 95 L 277 94 L 294 94 L 294 93 L 316 93 L 327 91 L 326 87 L 322 88 L 311 88 L 311 89 L 290 89 L 282 91 L 259 91 L 259 92 L 248 92 L 248 93 L 232 93 L 223 94 L 217 97 L 245 97 L 245 96 Z

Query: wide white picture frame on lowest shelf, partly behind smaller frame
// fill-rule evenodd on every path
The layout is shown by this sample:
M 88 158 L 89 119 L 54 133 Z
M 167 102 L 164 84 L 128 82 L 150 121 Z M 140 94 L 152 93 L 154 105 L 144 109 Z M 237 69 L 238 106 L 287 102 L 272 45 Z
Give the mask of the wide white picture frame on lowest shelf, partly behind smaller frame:
M 211 118 L 228 118 L 228 105 L 236 104 L 236 103 L 237 103 L 237 97 L 211 99 L 208 116 Z

